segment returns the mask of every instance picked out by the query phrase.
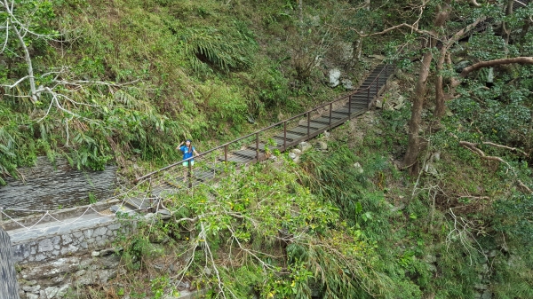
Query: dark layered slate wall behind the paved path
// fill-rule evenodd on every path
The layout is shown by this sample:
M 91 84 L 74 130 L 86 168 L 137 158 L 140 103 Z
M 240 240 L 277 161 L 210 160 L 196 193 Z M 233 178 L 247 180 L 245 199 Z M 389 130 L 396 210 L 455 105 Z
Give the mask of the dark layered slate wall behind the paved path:
M 38 157 L 35 167 L 19 169 L 24 180 L 6 179 L 7 185 L 0 186 L 0 207 L 52 210 L 86 203 L 89 193 L 98 200 L 112 196 L 115 166 L 104 171 L 77 170 L 63 158 L 54 164 Z

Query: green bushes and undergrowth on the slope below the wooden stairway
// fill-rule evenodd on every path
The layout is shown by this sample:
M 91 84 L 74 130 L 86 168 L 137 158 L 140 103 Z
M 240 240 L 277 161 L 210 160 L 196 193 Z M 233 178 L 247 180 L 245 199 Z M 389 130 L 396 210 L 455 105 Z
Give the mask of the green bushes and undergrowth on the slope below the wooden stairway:
M 278 155 L 168 197 L 171 219 L 125 234 L 117 245 L 130 272 L 93 296 L 159 297 L 181 280 L 208 297 L 529 298 L 533 197 L 459 146 L 451 120 L 432 145 L 440 158 L 426 161 L 434 170 L 415 184 L 390 154 L 406 143 L 402 129 L 386 130 L 408 112 L 348 123 L 299 164 Z

